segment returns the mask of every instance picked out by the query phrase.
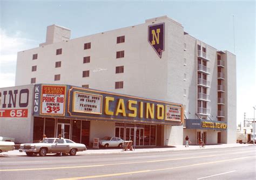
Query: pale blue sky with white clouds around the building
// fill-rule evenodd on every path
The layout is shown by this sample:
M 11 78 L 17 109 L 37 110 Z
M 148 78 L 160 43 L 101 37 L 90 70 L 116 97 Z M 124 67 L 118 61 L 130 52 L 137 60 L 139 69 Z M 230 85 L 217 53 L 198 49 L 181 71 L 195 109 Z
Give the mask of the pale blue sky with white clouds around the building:
M 237 56 L 237 123 L 256 106 L 255 1 L 4 1 L 0 0 L 0 87 L 15 85 L 17 52 L 45 42 L 52 24 L 71 39 L 143 24 L 164 16 L 218 50 Z

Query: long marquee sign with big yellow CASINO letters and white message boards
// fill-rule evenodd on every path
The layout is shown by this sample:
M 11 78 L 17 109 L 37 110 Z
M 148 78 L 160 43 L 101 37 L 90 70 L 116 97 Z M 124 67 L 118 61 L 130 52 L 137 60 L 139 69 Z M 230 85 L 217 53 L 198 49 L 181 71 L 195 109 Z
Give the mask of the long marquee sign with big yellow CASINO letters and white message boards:
M 179 104 L 72 86 L 67 112 L 70 117 L 93 120 L 176 125 L 183 121 Z

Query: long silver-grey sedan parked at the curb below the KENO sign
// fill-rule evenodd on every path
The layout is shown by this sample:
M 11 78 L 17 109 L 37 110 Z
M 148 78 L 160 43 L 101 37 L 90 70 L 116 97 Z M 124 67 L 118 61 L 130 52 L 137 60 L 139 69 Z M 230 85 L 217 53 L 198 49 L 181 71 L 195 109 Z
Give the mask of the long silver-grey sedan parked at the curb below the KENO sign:
M 46 156 L 48 153 L 69 153 L 75 156 L 77 151 L 86 150 L 85 144 L 75 143 L 68 139 L 59 141 L 58 138 L 46 138 L 40 143 L 21 144 L 19 152 L 25 152 L 28 156 L 39 154 Z

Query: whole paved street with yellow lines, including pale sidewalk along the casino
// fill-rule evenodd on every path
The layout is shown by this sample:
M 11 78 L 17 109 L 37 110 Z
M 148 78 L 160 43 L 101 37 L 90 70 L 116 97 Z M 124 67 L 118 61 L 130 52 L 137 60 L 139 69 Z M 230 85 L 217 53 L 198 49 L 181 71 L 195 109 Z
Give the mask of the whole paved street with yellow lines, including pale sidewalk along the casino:
M 256 179 L 256 146 L 99 149 L 76 156 L 0 155 L 0 179 Z

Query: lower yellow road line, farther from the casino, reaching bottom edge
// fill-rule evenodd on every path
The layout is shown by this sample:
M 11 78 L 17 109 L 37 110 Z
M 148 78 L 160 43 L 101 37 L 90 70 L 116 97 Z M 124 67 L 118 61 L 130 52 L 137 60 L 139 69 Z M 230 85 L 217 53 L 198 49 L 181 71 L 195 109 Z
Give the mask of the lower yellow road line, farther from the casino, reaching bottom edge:
M 254 156 L 254 157 L 256 157 L 256 156 Z M 179 166 L 179 167 L 164 168 L 164 169 L 153 169 L 153 170 L 120 172 L 120 173 L 118 173 L 118 174 L 105 174 L 105 175 L 94 175 L 94 176 L 84 176 L 84 177 L 69 177 L 69 178 L 60 178 L 60 179 L 55 179 L 55 180 L 90 179 L 90 178 L 97 178 L 97 177 L 122 176 L 122 175 L 130 175 L 130 174 L 137 174 L 137 173 L 143 173 L 143 172 L 154 172 L 154 171 L 164 171 L 164 170 L 171 170 L 171 169 L 195 167 L 195 166 L 198 166 L 198 165 L 213 164 L 213 163 L 220 163 L 220 162 L 234 161 L 234 160 L 242 160 L 242 159 L 245 159 L 245 158 L 252 158 L 252 156 L 233 158 L 233 159 L 230 159 L 230 160 L 221 160 L 221 161 L 213 161 L 213 162 L 206 162 L 206 163 L 197 163 L 197 164 L 191 164 L 191 165 L 183 165 L 183 166 Z M 227 173 L 227 172 L 226 172 L 226 173 Z M 217 176 L 217 175 L 215 175 L 215 176 Z M 209 176 L 209 177 L 210 177 L 210 176 Z

